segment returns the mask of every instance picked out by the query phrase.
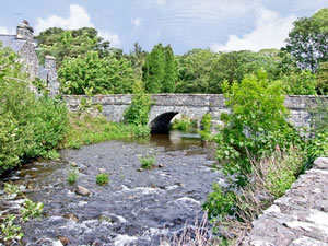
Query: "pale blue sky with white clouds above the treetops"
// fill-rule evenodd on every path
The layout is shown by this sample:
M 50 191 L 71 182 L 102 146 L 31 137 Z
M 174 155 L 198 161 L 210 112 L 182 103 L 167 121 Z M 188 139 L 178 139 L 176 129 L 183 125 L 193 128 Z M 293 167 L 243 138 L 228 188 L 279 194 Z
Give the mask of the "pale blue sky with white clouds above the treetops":
M 312 16 L 328 0 L 1 0 L 0 34 L 27 20 L 35 34 L 48 27 L 95 27 L 112 47 L 148 51 L 159 43 L 175 54 L 284 46 L 297 17 Z

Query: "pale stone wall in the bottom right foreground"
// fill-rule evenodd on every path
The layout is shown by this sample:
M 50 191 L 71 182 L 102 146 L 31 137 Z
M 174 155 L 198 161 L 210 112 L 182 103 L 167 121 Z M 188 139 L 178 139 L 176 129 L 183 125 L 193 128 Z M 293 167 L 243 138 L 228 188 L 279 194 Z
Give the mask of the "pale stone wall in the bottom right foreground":
M 292 185 L 286 194 L 253 222 L 243 246 L 328 245 L 328 157 Z

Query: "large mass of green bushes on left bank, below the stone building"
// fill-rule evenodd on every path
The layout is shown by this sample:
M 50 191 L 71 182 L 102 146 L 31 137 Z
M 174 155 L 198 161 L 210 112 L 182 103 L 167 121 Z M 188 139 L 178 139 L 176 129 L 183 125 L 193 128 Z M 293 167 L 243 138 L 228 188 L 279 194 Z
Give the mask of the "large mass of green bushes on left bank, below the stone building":
M 0 174 L 22 162 L 52 155 L 68 128 L 59 99 L 36 97 L 15 54 L 0 47 Z M 51 153 L 51 154 L 49 154 Z

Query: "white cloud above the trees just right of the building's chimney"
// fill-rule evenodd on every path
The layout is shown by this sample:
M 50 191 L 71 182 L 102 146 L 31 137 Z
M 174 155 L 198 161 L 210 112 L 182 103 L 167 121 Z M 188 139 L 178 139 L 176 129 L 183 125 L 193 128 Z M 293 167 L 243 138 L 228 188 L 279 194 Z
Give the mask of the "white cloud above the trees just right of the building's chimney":
M 71 4 L 69 16 L 67 17 L 50 15 L 47 19 L 37 19 L 37 24 L 35 26 L 36 33 L 49 27 L 75 30 L 82 27 L 95 27 L 95 25 L 92 23 L 87 11 L 83 7 L 79 4 Z M 112 46 L 120 45 L 120 38 L 117 34 L 107 30 L 98 30 L 98 33 L 104 39 L 109 40 Z

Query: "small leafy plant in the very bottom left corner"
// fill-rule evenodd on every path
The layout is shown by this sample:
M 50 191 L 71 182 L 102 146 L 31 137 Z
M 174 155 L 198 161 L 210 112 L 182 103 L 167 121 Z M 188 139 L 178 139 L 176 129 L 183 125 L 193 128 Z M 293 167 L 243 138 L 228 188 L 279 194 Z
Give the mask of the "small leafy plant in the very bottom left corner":
M 0 239 L 4 242 L 21 241 L 24 234 L 21 232 L 22 227 L 14 224 L 16 216 L 8 214 L 0 225 L 1 234 Z

